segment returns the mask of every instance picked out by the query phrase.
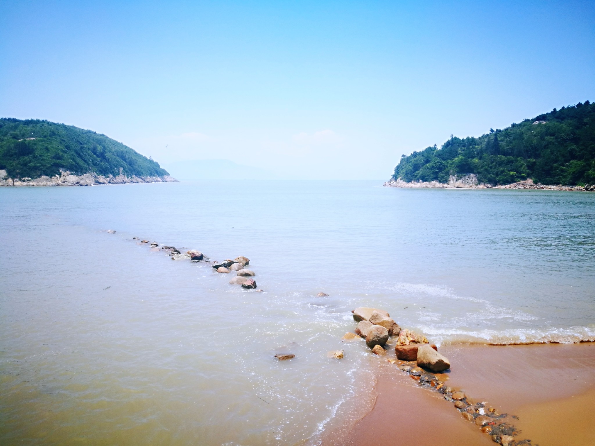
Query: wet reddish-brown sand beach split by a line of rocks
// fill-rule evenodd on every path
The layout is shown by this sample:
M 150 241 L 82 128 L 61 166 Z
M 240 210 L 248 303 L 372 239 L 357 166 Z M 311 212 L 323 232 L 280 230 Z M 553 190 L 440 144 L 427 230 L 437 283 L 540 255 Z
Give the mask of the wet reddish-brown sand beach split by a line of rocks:
M 452 370 L 447 385 L 513 420 L 533 445 L 595 445 L 595 344 L 444 346 Z M 418 387 L 378 358 L 374 408 L 343 438 L 325 445 L 493 445 L 438 392 Z

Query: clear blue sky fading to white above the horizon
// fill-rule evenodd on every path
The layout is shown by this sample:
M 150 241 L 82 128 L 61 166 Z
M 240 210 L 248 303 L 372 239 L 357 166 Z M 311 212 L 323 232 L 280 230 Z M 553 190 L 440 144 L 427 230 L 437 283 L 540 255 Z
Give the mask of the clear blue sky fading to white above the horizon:
M 402 153 L 594 93 L 592 0 L 0 0 L 0 116 L 166 165 L 387 179 Z

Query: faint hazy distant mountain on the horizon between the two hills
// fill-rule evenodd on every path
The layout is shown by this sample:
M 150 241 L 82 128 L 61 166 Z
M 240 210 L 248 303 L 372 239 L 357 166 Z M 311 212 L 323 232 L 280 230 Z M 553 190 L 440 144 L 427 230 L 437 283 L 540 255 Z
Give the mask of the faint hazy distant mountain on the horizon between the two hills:
M 271 180 L 273 172 L 236 164 L 228 159 L 196 159 L 167 164 L 178 180 Z

